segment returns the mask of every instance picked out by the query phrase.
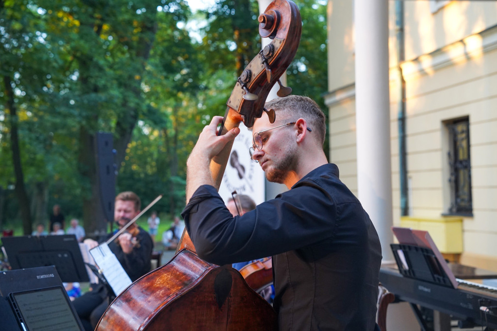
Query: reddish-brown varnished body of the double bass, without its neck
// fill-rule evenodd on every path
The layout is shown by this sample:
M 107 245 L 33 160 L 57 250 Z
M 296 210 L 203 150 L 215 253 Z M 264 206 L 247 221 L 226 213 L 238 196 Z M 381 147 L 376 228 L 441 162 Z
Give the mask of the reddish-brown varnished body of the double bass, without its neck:
M 97 330 L 277 330 L 272 307 L 231 266 L 183 249 L 131 284 Z

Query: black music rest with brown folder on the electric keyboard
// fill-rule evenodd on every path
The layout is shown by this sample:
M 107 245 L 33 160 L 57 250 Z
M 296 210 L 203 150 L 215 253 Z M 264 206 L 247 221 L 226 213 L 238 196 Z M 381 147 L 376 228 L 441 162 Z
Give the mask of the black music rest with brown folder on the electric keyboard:
M 399 245 L 390 245 L 403 276 L 457 288 L 457 280 L 436 247 L 423 230 L 392 227 Z

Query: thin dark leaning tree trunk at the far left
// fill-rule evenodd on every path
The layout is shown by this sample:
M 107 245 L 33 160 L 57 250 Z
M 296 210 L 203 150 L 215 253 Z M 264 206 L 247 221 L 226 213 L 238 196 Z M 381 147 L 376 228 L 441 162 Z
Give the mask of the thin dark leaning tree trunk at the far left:
M 4 94 L 7 97 L 6 110 L 10 110 L 10 148 L 12 149 L 12 164 L 15 174 L 15 195 L 19 202 L 19 212 L 22 219 L 22 231 L 24 235 L 31 234 L 31 212 L 29 210 L 29 198 L 24 185 L 24 174 L 22 172 L 21 151 L 19 148 L 17 108 L 14 102 L 10 77 L 3 76 Z

